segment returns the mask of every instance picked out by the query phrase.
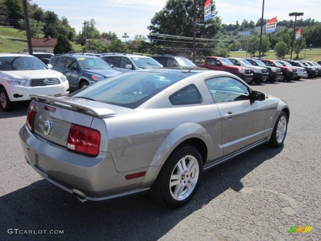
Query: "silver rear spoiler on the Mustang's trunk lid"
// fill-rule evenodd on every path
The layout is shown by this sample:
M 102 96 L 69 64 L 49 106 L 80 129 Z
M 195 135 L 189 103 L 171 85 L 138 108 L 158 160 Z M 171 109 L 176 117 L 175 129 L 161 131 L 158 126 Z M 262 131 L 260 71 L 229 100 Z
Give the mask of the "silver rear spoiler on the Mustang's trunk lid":
M 77 103 L 75 101 L 71 100 L 66 100 L 63 98 L 58 98 L 55 96 L 49 96 L 49 95 L 30 95 L 31 99 L 37 99 L 39 101 L 49 101 L 52 103 L 61 103 L 64 105 L 68 105 L 72 108 L 76 108 L 77 110 L 83 110 L 83 111 L 88 111 L 91 112 L 92 115 L 101 117 L 101 116 L 106 116 L 106 115 L 114 115 L 116 114 L 114 111 L 105 108 L 105 107 L 97 107 L 97 106 L 92 106 L 84 103 Z M 70 97 L 68 97 L 70 98 Z

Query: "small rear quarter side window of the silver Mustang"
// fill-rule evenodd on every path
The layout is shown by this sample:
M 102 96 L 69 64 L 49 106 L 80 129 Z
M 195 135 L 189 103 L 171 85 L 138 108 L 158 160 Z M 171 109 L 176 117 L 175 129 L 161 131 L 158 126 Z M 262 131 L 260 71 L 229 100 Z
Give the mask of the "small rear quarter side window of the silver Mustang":
M 201 104 L 203 98 L 195 85 L 187 85 L 183 89 L 170 95 L 169 101 L 172 105 L 190 105 Z

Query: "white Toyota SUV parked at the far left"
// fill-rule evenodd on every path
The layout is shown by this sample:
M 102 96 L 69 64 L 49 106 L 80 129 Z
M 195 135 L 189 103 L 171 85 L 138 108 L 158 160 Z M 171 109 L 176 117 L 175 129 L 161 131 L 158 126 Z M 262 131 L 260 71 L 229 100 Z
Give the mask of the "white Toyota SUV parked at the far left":
M 15 102 L 30 100 L 31 94 L 68 94 L 66 77 L 49 67 L 31 55 L 0 54 L 1 108 L 11 111 Z

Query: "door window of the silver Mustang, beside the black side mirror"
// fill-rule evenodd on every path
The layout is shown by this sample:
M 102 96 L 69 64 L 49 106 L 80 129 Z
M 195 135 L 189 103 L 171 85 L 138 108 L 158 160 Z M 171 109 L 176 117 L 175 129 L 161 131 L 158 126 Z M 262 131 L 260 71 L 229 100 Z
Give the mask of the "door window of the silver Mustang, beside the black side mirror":
M 215 77 L 206 80 L 205 84 L 216 104 L 250 99 L 247 86 L 232 77 Z

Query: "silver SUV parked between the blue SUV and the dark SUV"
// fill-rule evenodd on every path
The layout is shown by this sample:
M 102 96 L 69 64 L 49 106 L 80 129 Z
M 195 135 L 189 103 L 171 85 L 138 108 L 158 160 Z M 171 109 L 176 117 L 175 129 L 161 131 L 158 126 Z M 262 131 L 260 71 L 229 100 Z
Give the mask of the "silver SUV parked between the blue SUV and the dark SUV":
M 100 57 L 110 64 L 114 69 L 121 72 L 129 72 L 147 68 L 162 68 L 163 66 L 155 59 L 138 54 L 102 54 Z

